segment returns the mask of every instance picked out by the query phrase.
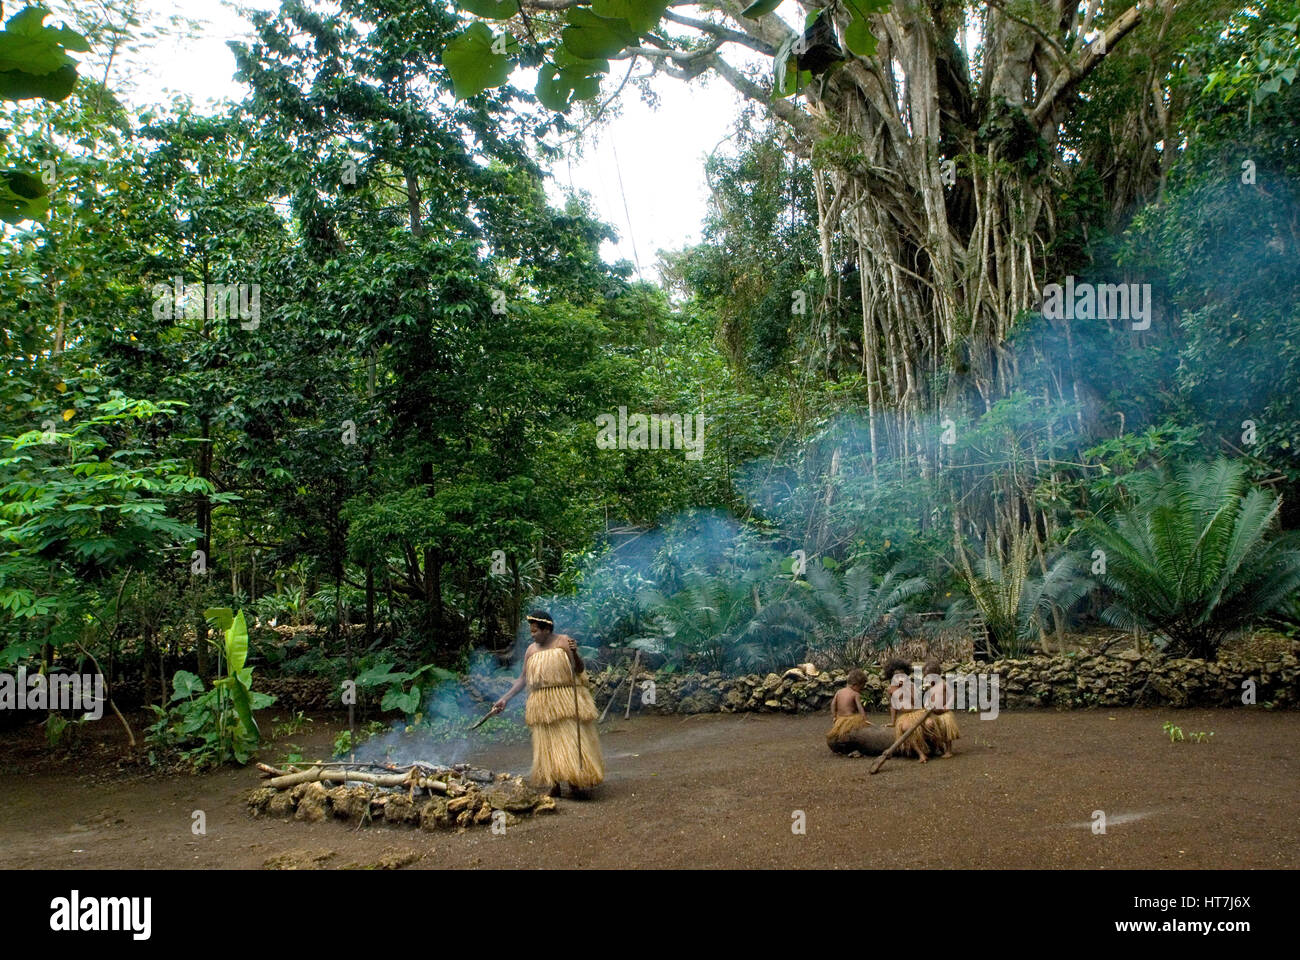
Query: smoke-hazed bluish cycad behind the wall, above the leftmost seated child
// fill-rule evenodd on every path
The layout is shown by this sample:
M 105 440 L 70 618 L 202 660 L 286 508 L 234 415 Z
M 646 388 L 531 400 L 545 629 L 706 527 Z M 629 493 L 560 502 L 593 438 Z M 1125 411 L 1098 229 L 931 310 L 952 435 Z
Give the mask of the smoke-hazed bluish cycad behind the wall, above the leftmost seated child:
M 802 605 L 810 620 L 810 653 L 831 667 L 862 666 L 897 632 L 907 601 L 930 589 L 902 565 L 879 583 L 871 566 L 855 563 L 837 574 L 810 565 Z

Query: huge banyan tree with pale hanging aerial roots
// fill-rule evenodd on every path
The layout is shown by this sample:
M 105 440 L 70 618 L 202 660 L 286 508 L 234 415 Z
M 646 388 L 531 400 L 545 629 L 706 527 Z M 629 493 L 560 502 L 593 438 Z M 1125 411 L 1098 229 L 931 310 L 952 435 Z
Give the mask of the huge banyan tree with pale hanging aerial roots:
M 948 416 L 987 411 L 1017 385 L 1024 356 L 1008 338 L 1044 287 L 1089 268 L 1080 196 L 1112 222 L 1160 196 L 1184 140 L 1179 79 L 1196 70 L 1188 51 L 1236 9 L 1216 0 L 807 0 L 798 30 L 796 4 L 781 16 L 781 0 L 460 3 L 481 17 L 443 56 L 463 96 L 504 83 L 516 64 L 538 65 L 538 99 L 567 111 L 621 90 L 624 70 L 649 64 L 684 82 L 711 72 L 779 120 L 815 180 L 826 281 L 816 349 L 828 368 L 848 364 L 866 382 L 871 470 L 890 459 L 922 475 L 952 457 L 939 438 Z M 1079 336 L 1069 324 L 1054 330 L 1052 360 L 1086 366 L 1071 359 Z M 1039 401 L 1087 406 L 1087 385 L 1069 369 L 1046 381 Z M 827 476 L 840 453 L 828 453 Z M 1037 450 L 1027 457 L 1030 472 L 1056 481 L 1054 464 Z M 997 506 L 961 526 L 994 528 L 1002 544 L 1037 527 L 1045 568 L 1053 520 L 1036 511 L 1034 481 L 992 483 L 1001 494 L 980 501 Z M 928 523 L 950 509 L 956 528 L 968 490 L 953 480 L 918 516 Z

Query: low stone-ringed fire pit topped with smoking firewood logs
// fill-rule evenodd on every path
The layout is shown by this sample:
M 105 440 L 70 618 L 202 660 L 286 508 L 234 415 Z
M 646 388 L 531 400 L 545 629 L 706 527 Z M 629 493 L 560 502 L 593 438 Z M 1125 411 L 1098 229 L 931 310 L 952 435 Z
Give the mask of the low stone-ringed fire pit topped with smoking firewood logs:
M 469 764 L 341 764 L 277 769 L 257 764 L 266 784 L 248 795 L 255 817 L 302 820 L 337 817 L 370 823 L 408 823 L 421 830 L 460 829 L 494 822 L 511 826 L 521 816 L 555 810 L 555 800 L 521 777 L 478 770 Z M 498 814 L 498 812 L 500 812 Z

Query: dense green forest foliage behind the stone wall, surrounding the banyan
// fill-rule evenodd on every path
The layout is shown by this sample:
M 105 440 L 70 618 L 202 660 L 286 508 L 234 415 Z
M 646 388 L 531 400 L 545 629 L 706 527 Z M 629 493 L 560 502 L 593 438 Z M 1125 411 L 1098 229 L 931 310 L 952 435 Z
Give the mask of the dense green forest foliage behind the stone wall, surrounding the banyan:
M 6 163 L 60 176 L 0 234 L 0 669 L 94 657 L 205 764 L 257 743 L 255 661 L 438 717 L 532 605 L 595 656 L 719 670 L 862 662 L 916 611 L 978 610 L 1002 653 L 1112 623 L 1212 656 L 1295 620 L 1294 5 L 1169 39 L 1188 137 L 1160 195 L 1115 212 L 1062 173 L 1045 276 L 1150 284 L 1150 329 L 1019 316 L 1005 382 L 933 416 L 871 403 L 859 264 L 823 269 L 815 174 L 852 143 L 800 157 L 744 118 L 658 285 L 602 259 L 585 196 L 547 198 L 547 108 L 663 13 L 592 9 L 516 55 L 448 4 L 286 0 L 237 46 L 239 104 L 83 79 L 6 111 Z M 541 104 L 514 56 L 547 57 Z M 987 389 L 965 349 L 927 363 L 935 395 Z M 698 458 L 610 449 L 620 408 L 702 416 Z M 208 643 L 224 606 L 242 653 Z

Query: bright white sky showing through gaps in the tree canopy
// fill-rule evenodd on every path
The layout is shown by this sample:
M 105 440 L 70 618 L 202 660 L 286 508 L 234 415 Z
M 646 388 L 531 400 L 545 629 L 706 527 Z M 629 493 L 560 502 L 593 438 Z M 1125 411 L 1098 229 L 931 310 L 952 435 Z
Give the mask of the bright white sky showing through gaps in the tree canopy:
M 243 4 L 278 8 L 276 0 Z M 127 103 L 143 107 L 168 100 L 172 94 L 186 94 L 203 104 L 244 95 L 243 85 L 233 79 L 234 55 L 226 42 L 247 35 L 250 27 L 228 0 L 147 0 L 147 5 L 153 12 L 150 23 L 179 13 L 205 26 L 194 39 L 160 40 L 147 57 L 148 69 L 134 74 L 129 88 L 114 86 Z M 734 48 L 731 51 L 733 64 L 744 62 Z M 602 96 L 612 92 L 625 72 L 625 65 L 614 61 Z M 636 74 L 644 72 L 642 61 Z M 556 183 L 588 190 L 597 215 L 618 230 L 619 243 L 606 243 L 603 256 L 610 261 L 640 261 L 646 280 L 655 278 L 658 250 L 698 242 L 708 194 L 705 157 L 732 131 L 740 112 L 738 95 L 720 78 L 689 85 L 658 78 L 654 83 L 660 99 L 656 109 L 647 107 L 629 83 L 623 91 L 621 114 L 589 131 L 581 157 L 552 167 Z M 551 193 L 559 198 L 559 191 Z

